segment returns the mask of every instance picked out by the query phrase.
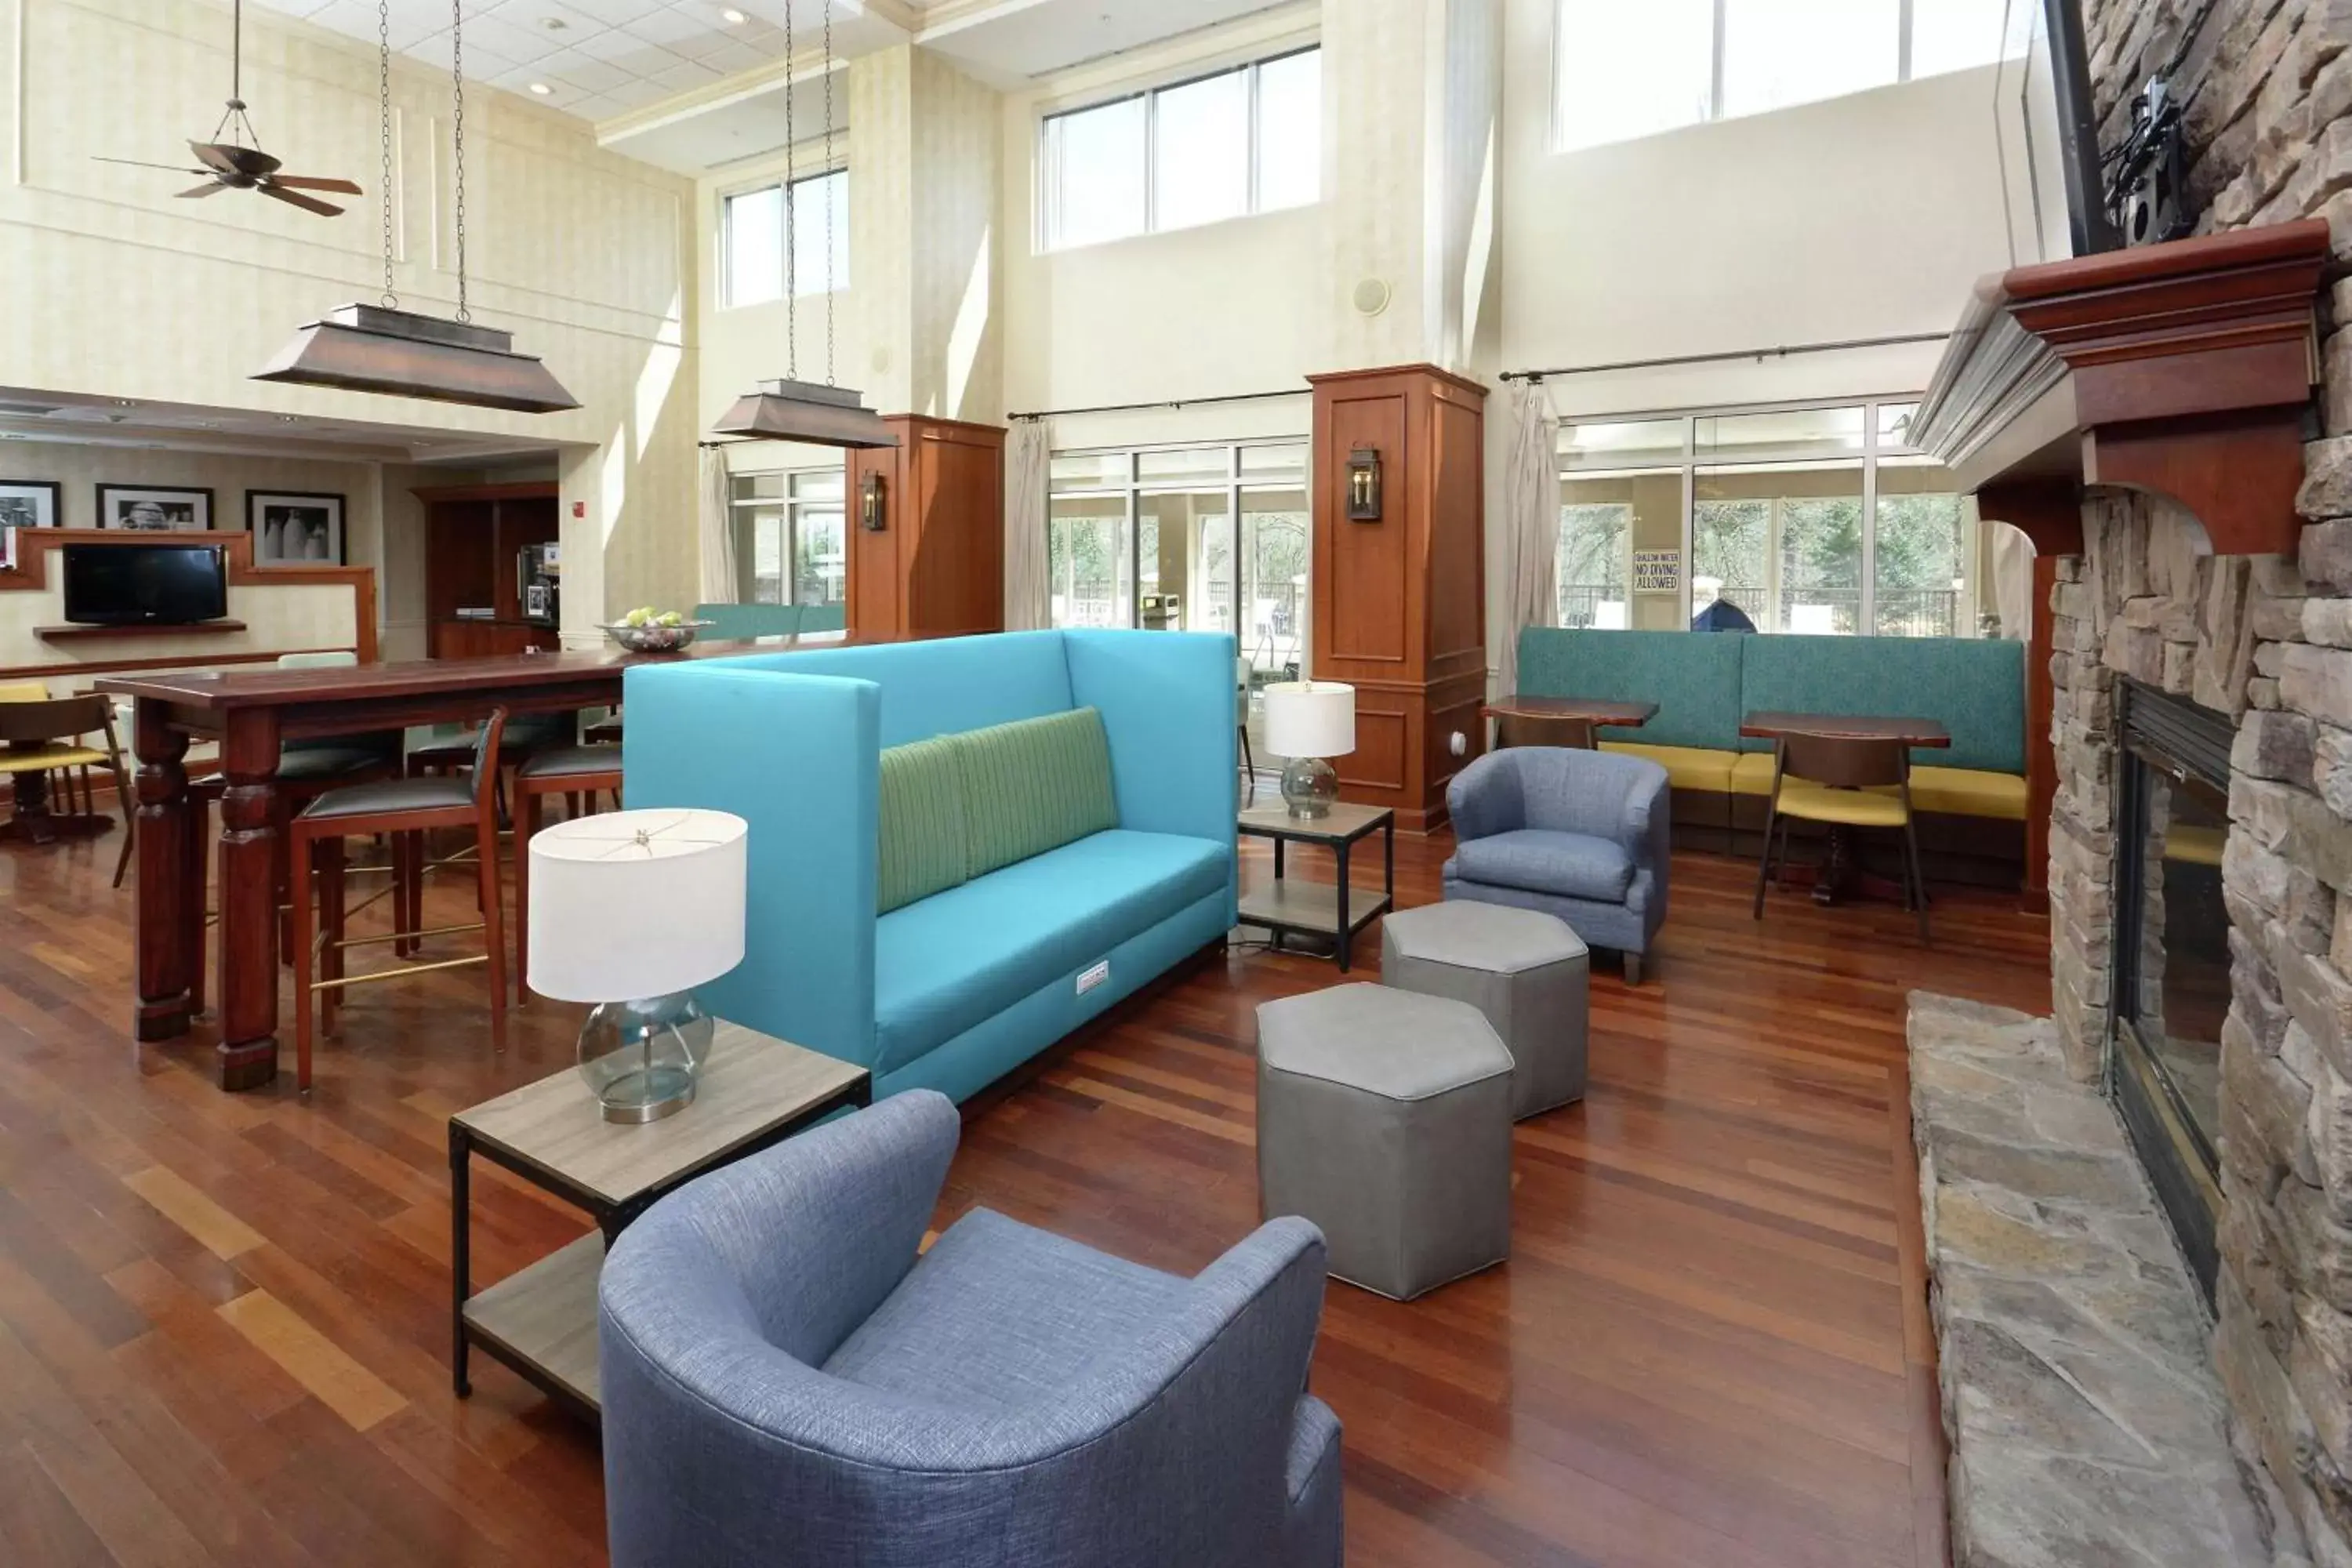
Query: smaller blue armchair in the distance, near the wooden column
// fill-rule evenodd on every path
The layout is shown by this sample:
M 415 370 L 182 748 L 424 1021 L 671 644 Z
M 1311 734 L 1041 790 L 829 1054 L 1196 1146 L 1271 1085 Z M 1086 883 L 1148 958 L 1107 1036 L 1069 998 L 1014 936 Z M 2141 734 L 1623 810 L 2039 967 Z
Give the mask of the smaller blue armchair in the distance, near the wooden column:
M 1642 954 L 1665 924 L 1665 769 L 1646 757 L 1519 745 L 1479 757 L 1446 788 L 1446 898 L 1508 903 L 1569 922 L 1592 947 Z

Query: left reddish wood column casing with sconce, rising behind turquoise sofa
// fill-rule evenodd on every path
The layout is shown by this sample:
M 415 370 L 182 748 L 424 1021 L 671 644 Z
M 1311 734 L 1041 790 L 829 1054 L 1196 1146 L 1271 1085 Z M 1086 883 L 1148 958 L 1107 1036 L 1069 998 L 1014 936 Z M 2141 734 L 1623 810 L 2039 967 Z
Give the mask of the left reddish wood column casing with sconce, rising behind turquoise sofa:
M 960 637 L 1004 630 L 1004 430 L 891 414 L 896 447 L 849 451 L 849 630 Z M 861 527 L 866 475 L 884 527 Z

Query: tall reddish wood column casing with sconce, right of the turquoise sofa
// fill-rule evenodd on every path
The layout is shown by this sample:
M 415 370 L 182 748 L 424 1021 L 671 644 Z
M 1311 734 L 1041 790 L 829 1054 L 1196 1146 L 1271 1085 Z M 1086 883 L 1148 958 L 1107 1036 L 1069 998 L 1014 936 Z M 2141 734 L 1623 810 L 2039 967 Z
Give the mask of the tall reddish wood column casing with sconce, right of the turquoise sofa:
M 1444 823 L 1446 783 L 1484 750 L 1486 390 L 1430 364 L 1315 386 L 1315 614 L 1308 672 L 1355 686 L 1345 799 L 1397 827 Z M 1381 454 L 1381 517 L 1348 517 L 1348 454 Z M 1463 736 L 1463 755 L 1454 755 Z

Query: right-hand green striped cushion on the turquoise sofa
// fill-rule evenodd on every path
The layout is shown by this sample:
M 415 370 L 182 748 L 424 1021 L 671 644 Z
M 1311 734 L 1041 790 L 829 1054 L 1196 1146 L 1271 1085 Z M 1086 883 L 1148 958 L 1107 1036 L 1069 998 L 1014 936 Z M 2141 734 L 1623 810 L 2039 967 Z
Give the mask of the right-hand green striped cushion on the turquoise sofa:
M 964 877 L 1120 825 L 1103 715 L 1073 708 L 953 736 L 964 773 Z

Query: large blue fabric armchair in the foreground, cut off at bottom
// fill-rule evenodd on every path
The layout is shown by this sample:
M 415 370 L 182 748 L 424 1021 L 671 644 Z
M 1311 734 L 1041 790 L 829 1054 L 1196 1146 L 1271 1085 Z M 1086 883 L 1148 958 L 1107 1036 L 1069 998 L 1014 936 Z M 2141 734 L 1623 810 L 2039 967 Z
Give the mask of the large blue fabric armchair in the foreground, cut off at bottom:
M 1322 1234 L 1192 1279 L 985 1208 L 915 1088 L 656 1204 L 600 1286 L 616 1568 L 1338 1568 Z

